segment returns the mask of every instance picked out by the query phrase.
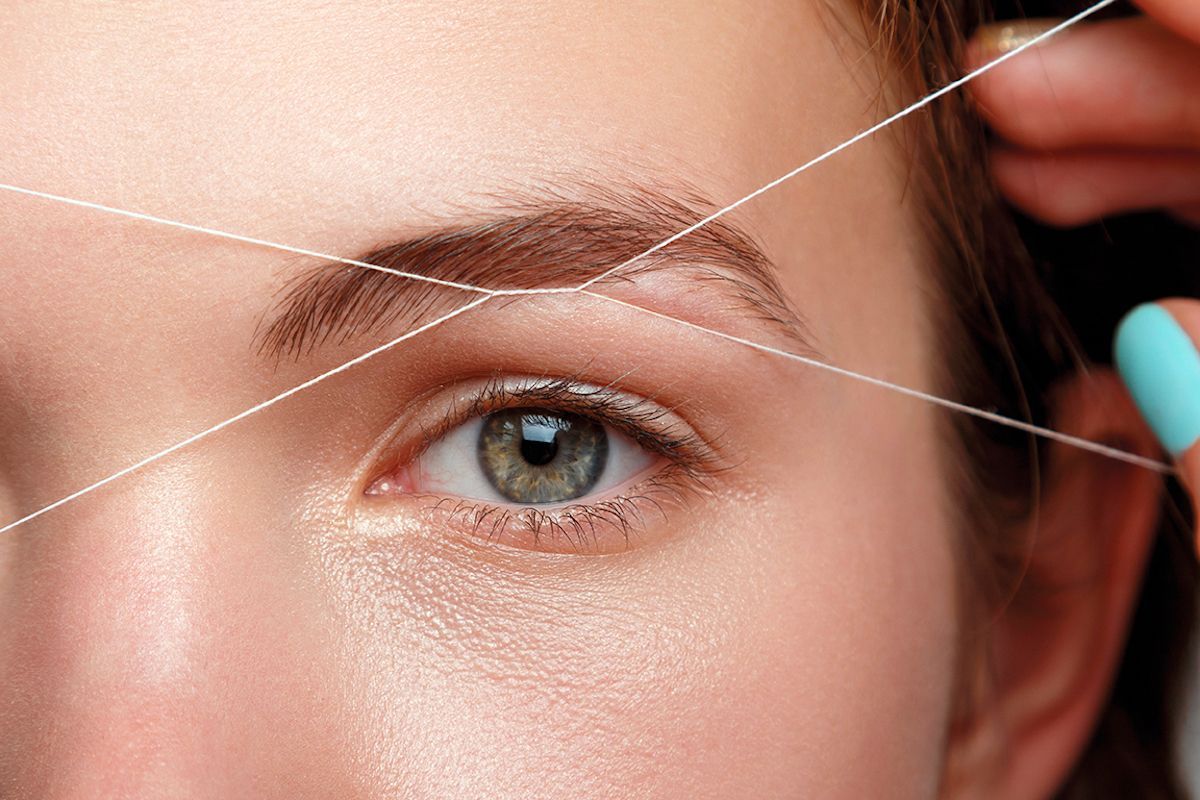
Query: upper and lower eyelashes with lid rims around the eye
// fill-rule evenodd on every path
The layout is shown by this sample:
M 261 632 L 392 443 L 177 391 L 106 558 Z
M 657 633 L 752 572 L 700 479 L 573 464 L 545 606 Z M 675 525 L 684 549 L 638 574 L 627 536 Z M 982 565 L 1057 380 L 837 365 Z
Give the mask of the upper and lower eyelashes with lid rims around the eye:
M 557 507 L 493 505 L 482 500 L 440 497 L 426 506 L 430 513 L 445 513 L 467 525 L 472 535 L 494 541 L 504 534 L 524 534 L 535 548 L 546 536 L 565 541 L 571 552 L 598 552 L 598 530 L 616 529 L 628 549 L 631 536 L 644 528 L 646 512 L 666 516 L 666 506 L 684 505 L 712 489 L 712 479 L 721 471 L 716 445 L 697 433 L 680 431 L 671 422 L 673 409 L 650 403 L 608 386 L 593 386 L 578 378 L 522 379 L 517 383 L 493 375 L 464 407 L 454 405 L 433 427 L 422 429 L 421 444 L 396 463 L 389 474 L 415 463 L 434 443 L 474 417 L 509 408 L 538 407 L 577 414 L 608 425 L 638 446 L 661 456 L 667 463 L 622 494 L 598 501 L 576 501 Z M 434 495 L 413 494 L 415 498 Z M 590 537 L 590 542 L 588 541 Z M 540 548 L 539 548 L 540 549 Z

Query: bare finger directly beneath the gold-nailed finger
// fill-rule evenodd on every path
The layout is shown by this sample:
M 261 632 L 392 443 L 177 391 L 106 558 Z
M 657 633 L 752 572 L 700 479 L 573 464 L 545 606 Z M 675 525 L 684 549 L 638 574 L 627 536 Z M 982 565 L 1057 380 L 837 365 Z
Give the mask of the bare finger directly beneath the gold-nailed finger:
M 991 156 L 1000 191 L 1026 213 L 1078 225 L 1144 209 L 1200 205 L 1200 152 L 1030 152 Z

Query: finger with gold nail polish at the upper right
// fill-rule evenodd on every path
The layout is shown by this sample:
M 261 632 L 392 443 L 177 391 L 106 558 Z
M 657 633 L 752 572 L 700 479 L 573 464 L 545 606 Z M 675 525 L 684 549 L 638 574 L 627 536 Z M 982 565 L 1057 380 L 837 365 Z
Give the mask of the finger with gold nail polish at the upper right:
M 1018 38 L 1027 34 L 1018 34 Z M 995 58 L 989 26 L 976 64 Z M 1150 19 L 1079 25 L 972 82 L 980 112 L 1014 144 L 1042 150 L 1200 150 L 1200 46 Z

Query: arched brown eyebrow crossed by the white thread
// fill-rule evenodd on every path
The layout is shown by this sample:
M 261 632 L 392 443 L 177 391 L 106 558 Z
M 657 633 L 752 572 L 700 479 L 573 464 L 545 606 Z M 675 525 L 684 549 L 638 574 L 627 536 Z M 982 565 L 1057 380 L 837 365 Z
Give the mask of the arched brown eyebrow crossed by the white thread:
M 487 289 L 574 287 L 638 257 L 704 218 L 712 204 L 644 187 L 588 187 L 503 200 L 476 222 L 450 224 L 372 247 L 353 258 L 388 270 Z M 805 349 L 810 337 L 761 247 L 726 219 L 713 221 L 592 287 L 671 269 L 710 287 L 730 309 L 779 329 Z M 320 263 L 289 279 L 256 332 L 270 360 L 311 355 L 398 324 L 414 326 L 478 294 L 343 263 Z

